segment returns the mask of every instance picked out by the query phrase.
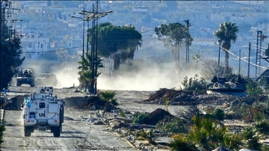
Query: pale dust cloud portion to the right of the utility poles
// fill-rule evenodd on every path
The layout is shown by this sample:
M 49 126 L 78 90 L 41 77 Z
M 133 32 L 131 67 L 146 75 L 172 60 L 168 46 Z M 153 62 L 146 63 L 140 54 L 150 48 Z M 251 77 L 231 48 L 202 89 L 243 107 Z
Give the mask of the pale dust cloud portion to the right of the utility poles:
M 156 91 L 165 87 L 179 89 L 183 78 L 192 77 L 196 72 L 195 70 L 184 71 L 178 78 L 175 78 L 173 62 L 148 64 L 146 67 L 143 66 L 142 69 L 130 73 L 121 71 L 113 78 L 101 74 L 97 80 L 97 88 L 138 91 Z

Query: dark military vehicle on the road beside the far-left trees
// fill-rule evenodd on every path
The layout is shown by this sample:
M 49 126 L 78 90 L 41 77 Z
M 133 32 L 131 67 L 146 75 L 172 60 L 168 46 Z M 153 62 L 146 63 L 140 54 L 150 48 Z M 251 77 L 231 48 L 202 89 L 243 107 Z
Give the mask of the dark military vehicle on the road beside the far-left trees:
M 20 68 L 17 73 L 17 87 L 21 85 L 30 85 L 30 87 L 34 87 L 35 84 L 35 75 L 34 69 L 32 68 Z

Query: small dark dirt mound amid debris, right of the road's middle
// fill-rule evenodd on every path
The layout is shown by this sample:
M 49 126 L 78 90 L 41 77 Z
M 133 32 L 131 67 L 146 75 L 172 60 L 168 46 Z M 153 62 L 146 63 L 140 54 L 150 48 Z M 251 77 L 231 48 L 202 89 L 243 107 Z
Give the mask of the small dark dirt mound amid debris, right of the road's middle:
M 145 124 L 156 125 L 158 124 L 158 122 L 170 117 L 174 117 L 174 115 L 171 115 L 166 110 L 157 108 L 157 110 L 154 110 L 152 113 L 149 113 L 149 120 L 146 120 Z

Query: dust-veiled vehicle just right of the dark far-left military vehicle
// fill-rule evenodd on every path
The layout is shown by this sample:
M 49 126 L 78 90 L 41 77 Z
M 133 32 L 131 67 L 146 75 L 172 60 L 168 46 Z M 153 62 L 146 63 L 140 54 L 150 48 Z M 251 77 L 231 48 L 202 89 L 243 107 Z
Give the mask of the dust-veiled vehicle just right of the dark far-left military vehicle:
M 39 73 L 36 75 L 36 85 L 57 85 L 56 75 L 53 73 Z

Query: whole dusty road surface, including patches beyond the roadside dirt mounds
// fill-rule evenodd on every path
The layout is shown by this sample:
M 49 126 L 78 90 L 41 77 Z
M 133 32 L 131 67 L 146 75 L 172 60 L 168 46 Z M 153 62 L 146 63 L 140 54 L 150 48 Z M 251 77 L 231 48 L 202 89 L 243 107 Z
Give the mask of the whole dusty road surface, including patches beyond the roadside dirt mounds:
M 85 94 L 74 92 L 75 89 L 53 89 L 53 94 L 59 98 L 83 98 Z M 10 87 L 8 98 L 25 95 L 34 92 L 33 87 Z M 116 91 L 116 98 L 120 108 L 130 112 L 152 112 L 163 105 L 137 103 L 147 99 L 154 92 L 140 91 Z M 71 100 L 72 101 L 72 100 Z M 76 101 L 74 99 L 74 101 Z M 179 106 L 170 106 L 170 113 L 175 114 Z M 1 150 L 135 150 L 130 143 L 119 138 L 113 132 L 107 131 L 104 125 L 95 125 L 85 117 L 95 114 L 97 111 L 72 110 L 66 107 L 63 131 L 60 138 L 54 138 L 50 131 L 34 131 L 32 136 L 24 137 L 23 120 L 21 110 L 6 110 L 6 131 L 4 133 L 5 143 Z

